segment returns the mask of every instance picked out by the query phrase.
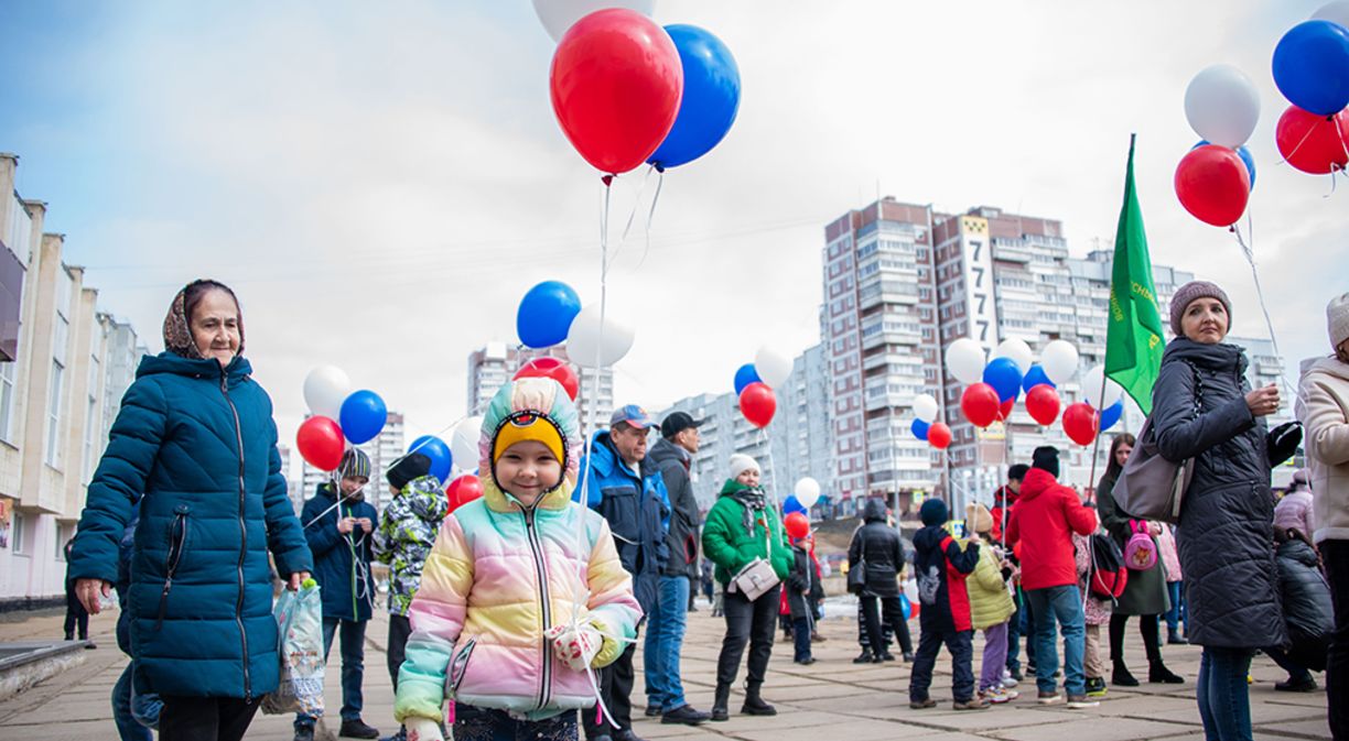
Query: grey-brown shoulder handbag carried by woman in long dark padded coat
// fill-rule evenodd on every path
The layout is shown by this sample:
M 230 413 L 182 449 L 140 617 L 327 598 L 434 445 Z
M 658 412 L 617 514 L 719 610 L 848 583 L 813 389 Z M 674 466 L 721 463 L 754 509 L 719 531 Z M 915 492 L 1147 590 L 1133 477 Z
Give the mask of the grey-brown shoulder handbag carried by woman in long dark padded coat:
M 1190 368 L 1194 369 L 1193 365 Z M 1197 415 L 1201 411 L 1202 395 L 1203 381 L 1199 373 L 1194 373 Z M 1157 435 L 1152 430 L 1152 418 L 1148 418 L 1139 430 L 1139 445 L 1125 461 L 1112 496 L 1116 507 L 1133 519 L 1178 524 L 1180 504 L 1191 478 L 1194 478 L 1194 458 L 1179 463 L 1167 461 L 1157 450 Z

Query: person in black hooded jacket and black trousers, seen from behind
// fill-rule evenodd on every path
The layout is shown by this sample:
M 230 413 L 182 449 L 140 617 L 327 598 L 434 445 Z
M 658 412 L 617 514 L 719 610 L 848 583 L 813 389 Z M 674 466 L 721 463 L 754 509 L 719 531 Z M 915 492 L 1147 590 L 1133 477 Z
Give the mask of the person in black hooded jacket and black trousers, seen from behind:
M 866 586 L 858 595 L 862 605 L 862 622 L 866 625 L 867 644 L 873 647 L 871 662 L 894 660 L 885 649 L 881 613 L 900 640 L 904 660 L 913 660 L 913 643 L 909 626 L 904 621 L 900 606 L 900 571 L 904 570 L 904 544 L 900 534 L 885 519 L 885 500 L 869 498 L 862 509 L 863 525 L 853 534 L 847 550 L 849 570 L 865 569 Z M 877 605 L 880 602 L 880 605 Z

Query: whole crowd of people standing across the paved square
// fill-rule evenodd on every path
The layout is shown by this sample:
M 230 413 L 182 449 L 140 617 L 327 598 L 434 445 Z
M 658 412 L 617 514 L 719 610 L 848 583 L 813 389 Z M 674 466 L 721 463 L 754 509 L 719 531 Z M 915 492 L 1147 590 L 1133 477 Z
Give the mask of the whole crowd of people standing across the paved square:
M 1224 341 L 1230 315 L 1211 283 L 1176 291 L 1151 430 L 1112 441 L 1094 498 L 1060 484 L 1059 451 L 1040 447 L 1010 466 L 992 508 L 969 507 L 959 525 L 942 498 L 924 501 L 912 555 L 885 503 L 867 500 L 847 554 L 857 662 L 911 663 L 915 710 L 938 705 L 943 645 L 958 710 L 1016 699 L 1028 676 L 1037 703 L 1090 707 L 1108 676 L 1140 682 L 1124 659 L 1132 617 L 1148 682 L 1188 680 L 1163 663 L 1164 645 L 1202 647 L 1194 683 L 1209 738 L 1251 738 L 1256 652 L 1288 671 L 1279 690 L 1315 690 L 1323 670 L 1331 732 L 1349 738 L 1349 294 L 1327 307 L 1331 354 L 1302 376 L 1300 426 L 1267 428 L 1284 400 L 1275 387 L 1249 388 L 1242 350 Z M 166 741 L 243 737 L 279 683 L 272 569 L 291 590 L 320 583 L 324 651 L 340 637 L 343 737 L 379 737 L 362 714 L 375 562 L 390 573 L 393 738 L 641 741 L 638 640 L 645 714 L 664 723 L 728 719 L 746 648 L 739 713 L 776 714 L 764 686 L 780 620 L 793 660 L 815 662 L 824 570 L 813 539 L 788 535 L 743 454 L 700 512 L 689 468 L 701 420 L 688 414 L 657 422 L 621 407 L 587 441 L 561 385 L 514 380 L 484 415 L 482 498 L 448 512 L 430 459 L 411 453 L 383 472 L 393 498 L 378 513 L 364 501 L 378 473 L 349 450 L 297 517 L 235 294 L 210 280 L 186 286 L 165 346 L 123 400 L 67 551 L 67 639 L 77 626 L 86 636 L 78 609 L 97 613 L 113 586 L 123 605 L 119 645 L 132 656 L 113 691 L 123 738 L 148 738 L 150 728 Z M 1307 469 L 1276 505 L 1271 470 L 1303 430 Z M 1132 517 L 1113 494 L 1141 446 L 1186 462 L 1175 523 Z M 905 571 L 920 608 L 916 647 Z M 699 586 L 726 625 L 707 711 L 689 703 L 680 667 Z M 297 741 L 313 738 L 316 721 L 295 718 Z

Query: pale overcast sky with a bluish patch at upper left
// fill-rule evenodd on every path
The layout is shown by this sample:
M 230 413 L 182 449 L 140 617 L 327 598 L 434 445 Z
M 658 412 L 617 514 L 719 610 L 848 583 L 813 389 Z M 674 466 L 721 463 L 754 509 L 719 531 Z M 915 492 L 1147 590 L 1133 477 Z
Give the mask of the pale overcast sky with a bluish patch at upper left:
M 759 345 L 816 342 L 823 228 L 877 194 L 1058 218 L 1074 255 L 1109 245 L 1130 132 L 1153 263 L 1218 282 L 1236 333 L 1267 335 L 1236 241 L 1171 185 L 1198 139 L 1184 88 L 1218 62 L 1261 96 L 1249 213 L 1279 342 L 1294 366 L 1329 352 L 1349 187 L 1279 164 L 1269 71 L 1318 5 L 658 0 L 658 23 L 726 42 L 743 92 L 722 144 L 666 172 L 649 252 L 643 210 L 610 273 L 610 311 L 637 329 L 616 400 L 730 391 Z M 530 286 L 599 296 L 602 186 L 553 117 L 527 0 L 16 0 L 0 28 L 0 150 L 66 261 L 156 352 L 179 286 L 232 284 L 282 439 L 320 364 L 410 435 L 445 427 L 468 353 L 514 340 Z M 615 183 L 615 238 L 642 183 Z

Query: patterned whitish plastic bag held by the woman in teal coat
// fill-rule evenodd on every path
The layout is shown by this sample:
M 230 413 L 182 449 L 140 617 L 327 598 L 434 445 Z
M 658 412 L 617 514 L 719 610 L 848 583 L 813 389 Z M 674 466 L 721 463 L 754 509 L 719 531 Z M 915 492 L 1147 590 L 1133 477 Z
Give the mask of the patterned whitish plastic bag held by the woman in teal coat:
M 298 591 L 282 591 L 272 614 L 281 635 L 281 684 L 262 698 L 262 711 L 318 718 L 324 714 L 324 605 L 318 582 L 305 579 Z

